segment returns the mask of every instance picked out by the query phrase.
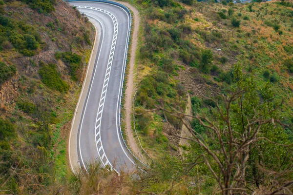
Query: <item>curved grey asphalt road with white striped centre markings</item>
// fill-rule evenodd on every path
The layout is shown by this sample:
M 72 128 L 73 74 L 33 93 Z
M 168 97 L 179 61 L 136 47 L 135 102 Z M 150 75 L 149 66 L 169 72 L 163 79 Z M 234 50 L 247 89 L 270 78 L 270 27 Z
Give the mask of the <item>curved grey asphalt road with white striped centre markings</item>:
M 70 4 L 84 13 L 98 32 L 73 119 L 69 140 L 71 167 L 80 164 L 86 168 L 86 163 L 98 160 L 119 173 L 132 170 L 134 160 L 123 142 L 120 127 L 131 16 L 124 8 L 108 3 Z

